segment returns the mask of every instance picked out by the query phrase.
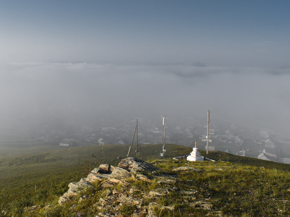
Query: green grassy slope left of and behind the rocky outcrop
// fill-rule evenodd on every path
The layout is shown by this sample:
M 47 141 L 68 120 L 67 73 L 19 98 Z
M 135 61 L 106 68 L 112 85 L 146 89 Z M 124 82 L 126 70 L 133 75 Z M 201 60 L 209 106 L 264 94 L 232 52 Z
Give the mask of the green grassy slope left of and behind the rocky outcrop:
M 138 145 L 139 158 L 158 158 L 162 146 L 163 144 Z M 35 149 L 32 149 L 32 152 L 35 153 L 37 150 L 40 150 L 40 148 L 41 147 L 36 146 Z M 52 146 L 52 148 L 55 147 Z M 52 198 L 57 198 L 66 192 L 66 190 L 68 190 L 67 185 L 70 182 L 79 181 L 79 179 L 85 177 L 85 175 L 80 172 L 77 159 L 84 161 L 91 152 L 98 158 L 101 148 L 103 148 L 105 154 L 102 157 L 103 163 L 117 166 L 121 161 L 121 159 L 117 159 L 117 157 L 126 158 L 129 145 L 62 148 L 60 150 L 37 154 L 27 154 L 26 151 L 23 155 L 12 153 L 13 157 L 1 158 L 0 190 L 6 189 L 4 203 L 14 203 L 17 201 L 19 206 L 23 207 L 27 205 L 26 201 L 29 200 L 31 201 L 29 204 L 44 206 L 47 200 L 50 201 Z M 185 155 L 191 151 L 191 148 L 174 144 L 166 145 L 166 149 L 167 157 Z M 15 152 L 17 152 L 17 150 L 15 150 Z M 136 157 L 134 146 L 129 156 Z M 114 161 L 111 161 L 113 159 Z M 92 169 L 93 168 L 94 166 Z

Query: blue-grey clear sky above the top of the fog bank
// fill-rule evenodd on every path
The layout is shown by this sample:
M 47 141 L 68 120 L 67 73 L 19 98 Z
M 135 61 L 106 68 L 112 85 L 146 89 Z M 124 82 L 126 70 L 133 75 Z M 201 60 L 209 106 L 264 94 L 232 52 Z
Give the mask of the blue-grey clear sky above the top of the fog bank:
M 2 1 L 1 62 L 289 66 L 290 1 Z

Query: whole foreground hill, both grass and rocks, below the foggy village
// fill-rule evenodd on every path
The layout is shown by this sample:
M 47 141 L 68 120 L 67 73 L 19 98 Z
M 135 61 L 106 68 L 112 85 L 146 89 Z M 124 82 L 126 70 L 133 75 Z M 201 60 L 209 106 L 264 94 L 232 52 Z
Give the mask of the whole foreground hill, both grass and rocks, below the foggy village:
M 151 146 L 158 147 L 156 145 L 147 147 Z M 162 147 L 162 144 L 160 146 Z M 127 149 L 126 146 L 117 147 Z M 16 169 L 14 172 L 17 174 L 21 168 L 33 166 L 31 168 L 35 173 L 31 172 L 31 176 L 18 174 L 10 179 L 11 187 L 4 195 L 1 206 L 3 210 L 7 211 L 6 216 L 39 217 L 95 217 L 107 214 L 108 216 L 116 214 L 126 217 L 134 215 L 134 213 L 135 216 L 136 213 L 138 213 L 137 216 L 149 214 L 157 216 L 275 216 L 290 213 L 288 204 L 290 201 L 290 165 L 225 152 L 209 152 L 206 155 L 202 150 L 200 152 L 203 156 L 216 161 L 189 162 L 173 160 L 172 157 L 154 159 L 152 158 L 154 156 L 150 156 L 155 152 L 152 147 L 148 150 L 146 165 L 150 164 L 152 168 L 155 168 L 154 171 L 136 170 L 136 172 L 131 172 L 127 168 L 127 165 L 132 162 L 132 167 L 136 165 L 134 161 L 145 162 L 144 155 L 143 160 L 124 157 L 116 159 L 117 162 L 107 160 L 112 157 L 107 156 L 105 164 L 93 169 L 88 176 L 84 176 L 77 172 L 79 167 L 73 153 L 81 154 L 81 150 L 89 150 L 92 147 L 58 150 L 51 152 L 50 155 L 44 152 L 31 158 L 30 163 L 25 162 L 22 165 L 17 163 L 21 162 L 21 158 L 16 159 L 17 161 L 14 162 L 16 165 L 10 165 L 8 172 Z M 191 151 L 191 148 L 183 146 L 168 144 L 167 147 L 167 150 L 171 149 L 171 155 L 174 157 L 188 154 Z M 98 150 L 99 146 L 93 148 Z M 110 147 L 107 146 L 107 148 Z M 64 154 L 67 155 L 67 158 L 61 158 Z M 52 159 L 52 155 L 54 155 L 55 161 L 49 160 Z M 59 166 L 61 161 L 58 160 L 58 157 L 64 162 L 64 165 L 68 165 L 66 168 L 57 169 L 46 166 L 50 163 Z M 28 156 L 23 156 L 24 158 L 27 158 L 28 161 Z M 37 163 L 33 163 L 37 158 L 37 163 L 42 162 L 40 168 L 37 167 Z M 74 166 L 69 166 L 72 163 L 68 160 L 70 158 L 74 159 Z M 65 161 L 68 163 L 65 164 Z M 9 162 L 3 163 L 9 164 Z M 3 163 L 1 166 L 6 166 Z M 115 168 L 117 170 L 113 173 Z M 3 170 L 1 173 L 1 179 L 5 181 Z M 36 173 L 38 173 L 37 176 L 35 176 Z M 96 175 L 99 179 L 93 178 Z M 120 180 L 119 176 L 124 177 Z M 77 185 L 79 181 L 88 181 L 87 179 L 95 181 L 89 182 L 90 186 Z M 21 180 L 26 182 L 23 183 Z M 74 193 L 66 197 L 64 193 L 69 192 L 71 187 L 73 187 L 71 192 Z M 81 188 L 79 189 L 79 187 Z M 180 193 L 183 191 L 190 193 L 184 196 Z M 65 199 L 65 203 L 62 203 L 61 206 L 58 203 L 60 196 L 69 199 Z M 142 201 L 142 205 L 124 203 L 128 200 Z M 113 214 L 114 210 L 115 214 Z M 149 213 L 149 211 L 152 212 Z

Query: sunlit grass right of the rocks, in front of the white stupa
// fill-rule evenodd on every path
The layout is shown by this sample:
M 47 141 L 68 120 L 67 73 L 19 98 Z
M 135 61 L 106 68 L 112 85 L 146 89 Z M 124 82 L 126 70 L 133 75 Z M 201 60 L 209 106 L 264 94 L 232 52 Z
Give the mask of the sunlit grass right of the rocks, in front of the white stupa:
M 286 202 L 290 200 L 289 172 L 276 168 L 260 169 L 240 163 L 212 161 L 181 161 L 181 163 L 171 161 L 158 166 L 169 171 L 179 166 L 194 166 L 204 170 L 201 173 L 181 172 L 179 174 L 181 180 L 176 186 L 185 190 L 194 188 L 200 191 L 196 200 L 211 198 L 209 201 L 213 203 L 215 211 L 222 211 L 224 216 L 290 215 L 290 202 Z M 160 202 L 166 199 L 171 200 L 170 197 L 160 198 Z M 182 204 L 182 198 L 175 198 L 175 201 L 180 201 L 179 204 Z M 182 216 L 188 216 L 189 212 L 184 212 Z M 170 214 L 163 216 L 170 216 Z

